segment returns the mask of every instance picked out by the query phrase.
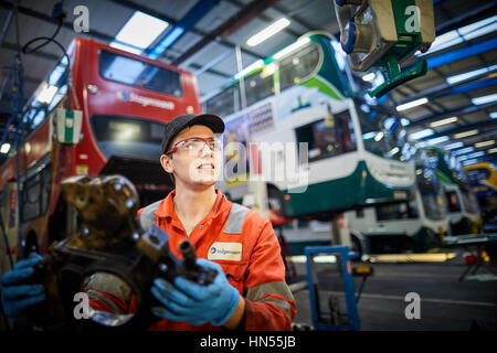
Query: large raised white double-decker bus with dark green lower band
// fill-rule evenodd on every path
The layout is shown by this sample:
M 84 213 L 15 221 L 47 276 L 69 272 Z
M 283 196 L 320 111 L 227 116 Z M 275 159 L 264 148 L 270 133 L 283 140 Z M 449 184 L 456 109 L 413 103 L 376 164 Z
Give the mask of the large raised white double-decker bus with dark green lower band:
M 226 143 L 307 143 L 308 160 L 299 165 L 307 179 L 265 180 L 271 207 L 286 217 L 329 221 L 347 210 L 408 200 L 414 191 L 401 118 L 364 97 L 339 47 L 325 32 L 308 33 L 203 101 L 207 113 L 224 119 Z M 274 152 L 277 171 L 285 154 Z M 247 193 L 236 178 L 219 186 L 232 200 Z

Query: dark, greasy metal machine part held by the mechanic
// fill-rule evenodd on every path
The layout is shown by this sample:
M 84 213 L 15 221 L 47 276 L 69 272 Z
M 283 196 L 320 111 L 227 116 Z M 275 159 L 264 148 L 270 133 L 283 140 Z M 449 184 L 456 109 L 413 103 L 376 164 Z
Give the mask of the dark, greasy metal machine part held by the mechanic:
M 150 313 L 154 279 L 172 282 L 182 276 L 207 286 L 215 278 L 215 270 L 195 264 L 190 242 L 179 244 L 180 259 L 170 252 L 167 233 L 156 225 L 141 228 L 137 192 L 126 178 L 74 176 L 61 186 L 64 199 L 76 207 L 81 225 L 52 245 L 36 268 L 34 281 L 46 290 L 46 299 L 29 312 L 36 323 L 146 329 L 158 320 Z M 106 279 L 95 285 L 95 276 Z M 85 320 L 76 312 L 78 293 L 91 298 Z M 119 306 L 109 298 L 117 298 Z

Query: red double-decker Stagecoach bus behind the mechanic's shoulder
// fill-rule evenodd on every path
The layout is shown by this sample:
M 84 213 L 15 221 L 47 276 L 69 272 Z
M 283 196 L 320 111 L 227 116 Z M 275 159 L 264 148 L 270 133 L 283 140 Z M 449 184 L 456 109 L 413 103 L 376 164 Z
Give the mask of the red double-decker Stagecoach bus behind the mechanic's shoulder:
M 75 143 L 56 138 L 57 108 L 81 116 Z M 192 74 L 76 38 L 25 106 L 21 122 L 34 129 L 20 146 L 19 159 L 11 153 L 0 169 L 0 210 L 12 252 L 23 249 L 18 258 L 33 249 L 44 253 L 73 229 L 75 212 L 60 188 L 68 176 L 121 174 L 136 185 L 141 205 L 163 197 L 170 191 L 159 163 L 165 122 L 200 111 Z M 18 178 L 20 193 L 12 191 Z

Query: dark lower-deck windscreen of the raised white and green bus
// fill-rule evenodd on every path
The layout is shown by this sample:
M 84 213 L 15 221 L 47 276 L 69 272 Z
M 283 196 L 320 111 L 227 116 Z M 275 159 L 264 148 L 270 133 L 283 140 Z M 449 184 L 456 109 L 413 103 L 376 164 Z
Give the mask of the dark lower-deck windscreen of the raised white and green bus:
M 356 150 L 349 111 L 314 121 L 295 130 L 298 142 L 307 142 L 309 162 Z

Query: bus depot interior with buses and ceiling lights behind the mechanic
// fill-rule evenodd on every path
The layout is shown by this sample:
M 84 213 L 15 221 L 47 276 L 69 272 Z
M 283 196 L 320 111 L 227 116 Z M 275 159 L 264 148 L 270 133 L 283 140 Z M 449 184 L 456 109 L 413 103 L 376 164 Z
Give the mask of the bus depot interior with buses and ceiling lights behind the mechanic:
M 81 231 L 70 178 L 166 197 L 165 126 L 208 113 L 294 330 L 497 330 L 495 1 L 0 4 L 0 274 Z

